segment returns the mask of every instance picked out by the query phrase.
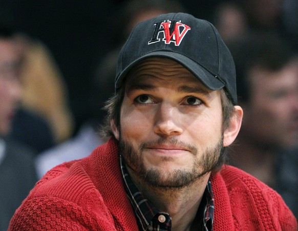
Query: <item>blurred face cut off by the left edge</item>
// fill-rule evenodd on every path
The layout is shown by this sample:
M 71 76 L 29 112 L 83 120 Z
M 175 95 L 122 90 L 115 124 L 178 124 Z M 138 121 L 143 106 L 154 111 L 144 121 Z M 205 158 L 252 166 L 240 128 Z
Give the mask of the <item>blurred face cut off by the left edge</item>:
M 20 99 L 18 53 L 11 40 L 0 39 L 0 135 L 9 132 Z

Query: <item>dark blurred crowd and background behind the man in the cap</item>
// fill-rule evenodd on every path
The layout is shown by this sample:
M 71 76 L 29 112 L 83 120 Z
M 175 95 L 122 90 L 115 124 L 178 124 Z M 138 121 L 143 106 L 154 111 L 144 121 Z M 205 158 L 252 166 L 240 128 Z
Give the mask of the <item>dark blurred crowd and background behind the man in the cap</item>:
M 12 71 L 12 89 L 20 91 L 10 127 L 0 124 L 0 230 L 46 171 L 105 142 L 98 131 L 119 49 L 139 21 L 167 12 L 193 14 L 219 30 L 244 109 L 230 164 L 278 191 L 298 216 L 297 1 L 10 0 L 0 8 L 0 48 L 10 45 L 0 49 L 0 89 L 5 95 L 1 84 Z M 8 53 L 16 64 L 7 71 Z

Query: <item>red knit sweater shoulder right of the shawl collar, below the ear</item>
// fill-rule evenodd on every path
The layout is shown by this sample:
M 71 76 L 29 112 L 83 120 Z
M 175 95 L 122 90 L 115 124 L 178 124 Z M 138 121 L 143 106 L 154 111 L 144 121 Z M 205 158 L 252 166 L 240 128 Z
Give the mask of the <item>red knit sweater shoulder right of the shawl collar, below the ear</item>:
M 225 205 L 230 207 L 238 225 L 252 227 L 250 222 L 258 221 L 264 227 L 280 226 L 285 230 L 297 227 L 296 219 L 282 197 L 256 177 L 225 165 L 211 179 L 217 203 L 222 205 L 221 200 L 226 200 Z

